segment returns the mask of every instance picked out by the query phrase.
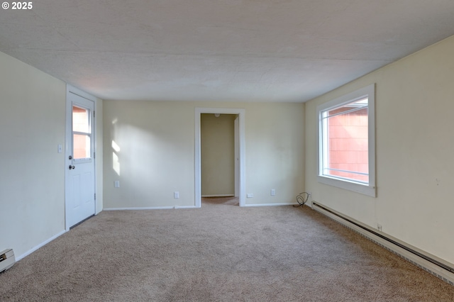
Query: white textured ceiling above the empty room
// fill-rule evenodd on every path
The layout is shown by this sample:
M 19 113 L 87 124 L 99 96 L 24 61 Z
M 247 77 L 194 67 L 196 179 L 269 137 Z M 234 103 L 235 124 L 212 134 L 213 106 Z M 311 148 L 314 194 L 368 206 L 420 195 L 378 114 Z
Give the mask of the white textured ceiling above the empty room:
M 450 35 L 453 0 L 38 0 L 29 11 L 0 9 L 1 52 L 101 99 L 307 101 Z

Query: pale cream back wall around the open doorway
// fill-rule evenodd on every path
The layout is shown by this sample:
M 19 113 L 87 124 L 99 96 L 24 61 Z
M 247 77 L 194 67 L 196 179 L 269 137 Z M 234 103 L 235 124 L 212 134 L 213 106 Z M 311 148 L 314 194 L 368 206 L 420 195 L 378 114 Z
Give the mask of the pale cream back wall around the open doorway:
M 294 202 L 304 191 L 304 104 L 105 101 L 104 208 L 195 206 L 194 108 L 214 106 L 245 108 L 246 203 Z

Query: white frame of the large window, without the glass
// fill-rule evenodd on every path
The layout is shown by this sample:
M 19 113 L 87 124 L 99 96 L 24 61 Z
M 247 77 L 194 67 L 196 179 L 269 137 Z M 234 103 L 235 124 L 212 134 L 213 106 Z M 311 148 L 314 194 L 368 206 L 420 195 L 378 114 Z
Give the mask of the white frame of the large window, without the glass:
M 369 183 L 363 184 L 357 181 L 349 181 L 347 179 L 341 179 L 338 177 L 330 177 L 323 175 L 323 133 L 322 133 L 322 123 L 323 118 L 322 114 L 323 111 L 330 110 L 332 108 L 336 108 L 353 101 L 358 101 L 359 99 L 363 99 L 367 97 L 368 105 L 367 105 L 367 121 L 368 121 L 368 161 L 369 161 Z M 328 101 L 325 104 L 321 104 L 317 106 L 317 179 L 322 184 L 328 184 L 331 186 L 337 186 L 341 189 L 346 189 L 350 191 L 355 191 L 361 194 L 365 194 L 367 196 L 376 197 L 377 190 L 375 187 L 375 84 L 370 84 L 369 86 L 365 86 L 362 89 L 358 89 L 356 91 L 350 92 L 349 94 L 345 94 L 344 96 L 340 96 L 337 99 L 333 99 L 332 101 Z M 325 119 L 326 120 L 326 119 Z M 326 159 L 325 159 L 326 160 Z

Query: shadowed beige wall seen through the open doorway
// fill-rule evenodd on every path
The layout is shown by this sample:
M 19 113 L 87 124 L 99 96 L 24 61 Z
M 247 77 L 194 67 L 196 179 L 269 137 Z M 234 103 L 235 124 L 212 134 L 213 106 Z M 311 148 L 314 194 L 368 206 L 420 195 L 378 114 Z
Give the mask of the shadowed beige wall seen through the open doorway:
M 202 196 L 235 195 L 235 118 L 201 114 Z

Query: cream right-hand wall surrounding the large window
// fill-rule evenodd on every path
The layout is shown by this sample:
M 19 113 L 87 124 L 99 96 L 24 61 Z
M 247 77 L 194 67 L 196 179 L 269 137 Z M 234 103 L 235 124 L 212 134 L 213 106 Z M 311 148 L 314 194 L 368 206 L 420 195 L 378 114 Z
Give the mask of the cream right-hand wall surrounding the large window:
M 454 37 L 306 103 L 312 199 L 454 263 Z M 316 179 L 316 106 L 376 83 L 377 198 Z

